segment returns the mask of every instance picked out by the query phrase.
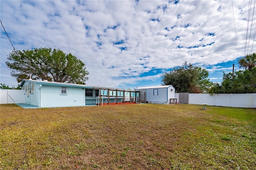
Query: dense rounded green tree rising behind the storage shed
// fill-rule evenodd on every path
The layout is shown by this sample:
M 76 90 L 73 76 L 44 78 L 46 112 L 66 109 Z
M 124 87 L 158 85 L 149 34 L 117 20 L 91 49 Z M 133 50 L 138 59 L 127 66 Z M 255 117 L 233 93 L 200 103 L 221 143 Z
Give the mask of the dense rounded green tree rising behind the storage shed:
M 177 93 L 206 93 L 213 85 L 207 79 L 208 75 L 207 70 L 184 62 L 182 66 L 174 67 L 170 72 L 164 73 L 162 84 L 174 86 Z

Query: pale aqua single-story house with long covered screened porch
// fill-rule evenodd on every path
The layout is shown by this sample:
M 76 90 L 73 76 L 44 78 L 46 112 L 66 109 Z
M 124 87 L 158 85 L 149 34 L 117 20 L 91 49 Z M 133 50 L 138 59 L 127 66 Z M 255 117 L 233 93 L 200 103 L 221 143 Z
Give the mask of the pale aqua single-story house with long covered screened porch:
M 67 107 L 136 103 L 135 91 L 83 84 L 24 79 L 24 103 L 38 107 Z M 137 96 L 137 97 L 136 97 Z

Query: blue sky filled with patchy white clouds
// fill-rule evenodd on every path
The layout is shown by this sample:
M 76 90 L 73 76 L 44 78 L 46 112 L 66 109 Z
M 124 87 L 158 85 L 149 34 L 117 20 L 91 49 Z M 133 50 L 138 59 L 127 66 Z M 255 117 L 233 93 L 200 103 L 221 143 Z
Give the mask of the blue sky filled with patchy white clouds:
M 185 61 L 221 82 L 256 52 L 254 9 L 255 0 L 0 0 L 16 50 L 59 48 L 86 64 L 87 85 L 124 89 L 161 85 Z M 13 47 L 0 30 L 0 83 L 16 87 L 5 64 Z

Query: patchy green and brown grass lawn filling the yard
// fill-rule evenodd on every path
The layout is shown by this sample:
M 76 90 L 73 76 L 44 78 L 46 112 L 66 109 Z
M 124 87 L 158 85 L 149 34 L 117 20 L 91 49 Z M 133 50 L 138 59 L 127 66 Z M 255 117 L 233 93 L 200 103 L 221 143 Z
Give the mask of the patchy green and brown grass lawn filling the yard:
M 0 169 L 256 169 L 256 109 L 0 105 Z

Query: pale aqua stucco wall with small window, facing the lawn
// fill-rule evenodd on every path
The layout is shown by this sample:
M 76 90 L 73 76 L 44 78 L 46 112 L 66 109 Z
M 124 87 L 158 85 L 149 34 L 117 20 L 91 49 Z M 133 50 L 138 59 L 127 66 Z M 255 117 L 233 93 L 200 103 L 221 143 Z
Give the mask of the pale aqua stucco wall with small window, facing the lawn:
M 39 92 L 40 107 L 85 106 L 85 90 L 67 87 L 67 94 L 60 94 L 60 86 L 42 85 Z

